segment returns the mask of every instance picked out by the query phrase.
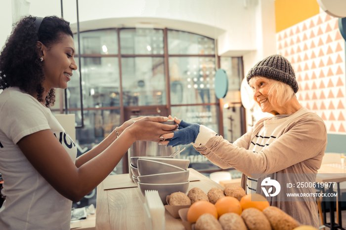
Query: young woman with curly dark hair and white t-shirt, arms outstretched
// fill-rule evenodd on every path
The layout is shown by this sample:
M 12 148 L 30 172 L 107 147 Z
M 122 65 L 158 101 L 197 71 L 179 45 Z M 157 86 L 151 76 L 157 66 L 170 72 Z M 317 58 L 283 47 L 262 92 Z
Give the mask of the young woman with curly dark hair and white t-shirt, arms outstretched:
M 69 230 L 72 201 L 102 182 L 133 142 L 159 142 L 176 128 L 160 123 L 168 117 L 131 119 L 76 159 L 75 144 L 48 108 L 54 88 L 66 88 L 77 70 L 75 50 L 68 22 L 28 16 L 1 51 L 1 230 Z

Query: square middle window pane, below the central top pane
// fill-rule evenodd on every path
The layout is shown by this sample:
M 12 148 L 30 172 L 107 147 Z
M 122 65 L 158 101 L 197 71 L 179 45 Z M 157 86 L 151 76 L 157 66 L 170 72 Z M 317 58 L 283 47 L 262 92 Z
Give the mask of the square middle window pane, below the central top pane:
M 124 106 L 166 105 L 164 58 L 122 58 Z

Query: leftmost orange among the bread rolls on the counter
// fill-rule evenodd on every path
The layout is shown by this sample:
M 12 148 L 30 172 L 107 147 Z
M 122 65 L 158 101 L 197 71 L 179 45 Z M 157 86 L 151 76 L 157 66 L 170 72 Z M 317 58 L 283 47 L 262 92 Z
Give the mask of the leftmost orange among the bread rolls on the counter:
M 187 221 L 196 222 L 197 219 L 205 213 L 210 213 L 217 219 L 217 210 L 214 204 L 207 200 L 196 201 L 191 204 L 187 211 Z

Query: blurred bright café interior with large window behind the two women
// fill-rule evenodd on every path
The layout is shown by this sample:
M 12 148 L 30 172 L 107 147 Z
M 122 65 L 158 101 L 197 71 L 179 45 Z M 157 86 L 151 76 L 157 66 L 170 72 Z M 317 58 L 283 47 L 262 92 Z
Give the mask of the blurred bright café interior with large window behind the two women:
M 66 124 L 78 156 L 142 115 L 173 115 L 234 142 L 269 115 L 255 105 L 244 77 L 262 58 L 281 54 L 296 72 L 299 101 L 327 126 L 326 154 L 337 153 L 340 161 L 346 153 L 346 12 L 338 4 L 346 7 L 338 0 L 1 0 L 0 44 L 24 15 L 71 23 L 79 70 L 50 109 Z M 227 76 L 222 96 L 218 70 Z M 180 158 L 205 176 L 241 177 L 192 145 L 185 148 Z M 112 172 L 125 173 L 127 155 Z M 90 204 L 97 205 L 96 189 L 73 205 Z

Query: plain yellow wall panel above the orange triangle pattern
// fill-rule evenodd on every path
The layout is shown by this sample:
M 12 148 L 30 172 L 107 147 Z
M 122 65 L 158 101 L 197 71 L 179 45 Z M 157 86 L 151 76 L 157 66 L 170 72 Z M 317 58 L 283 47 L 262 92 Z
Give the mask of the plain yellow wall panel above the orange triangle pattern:
M 276 33 L 319 13 L 317 0 L 275 0 Z

